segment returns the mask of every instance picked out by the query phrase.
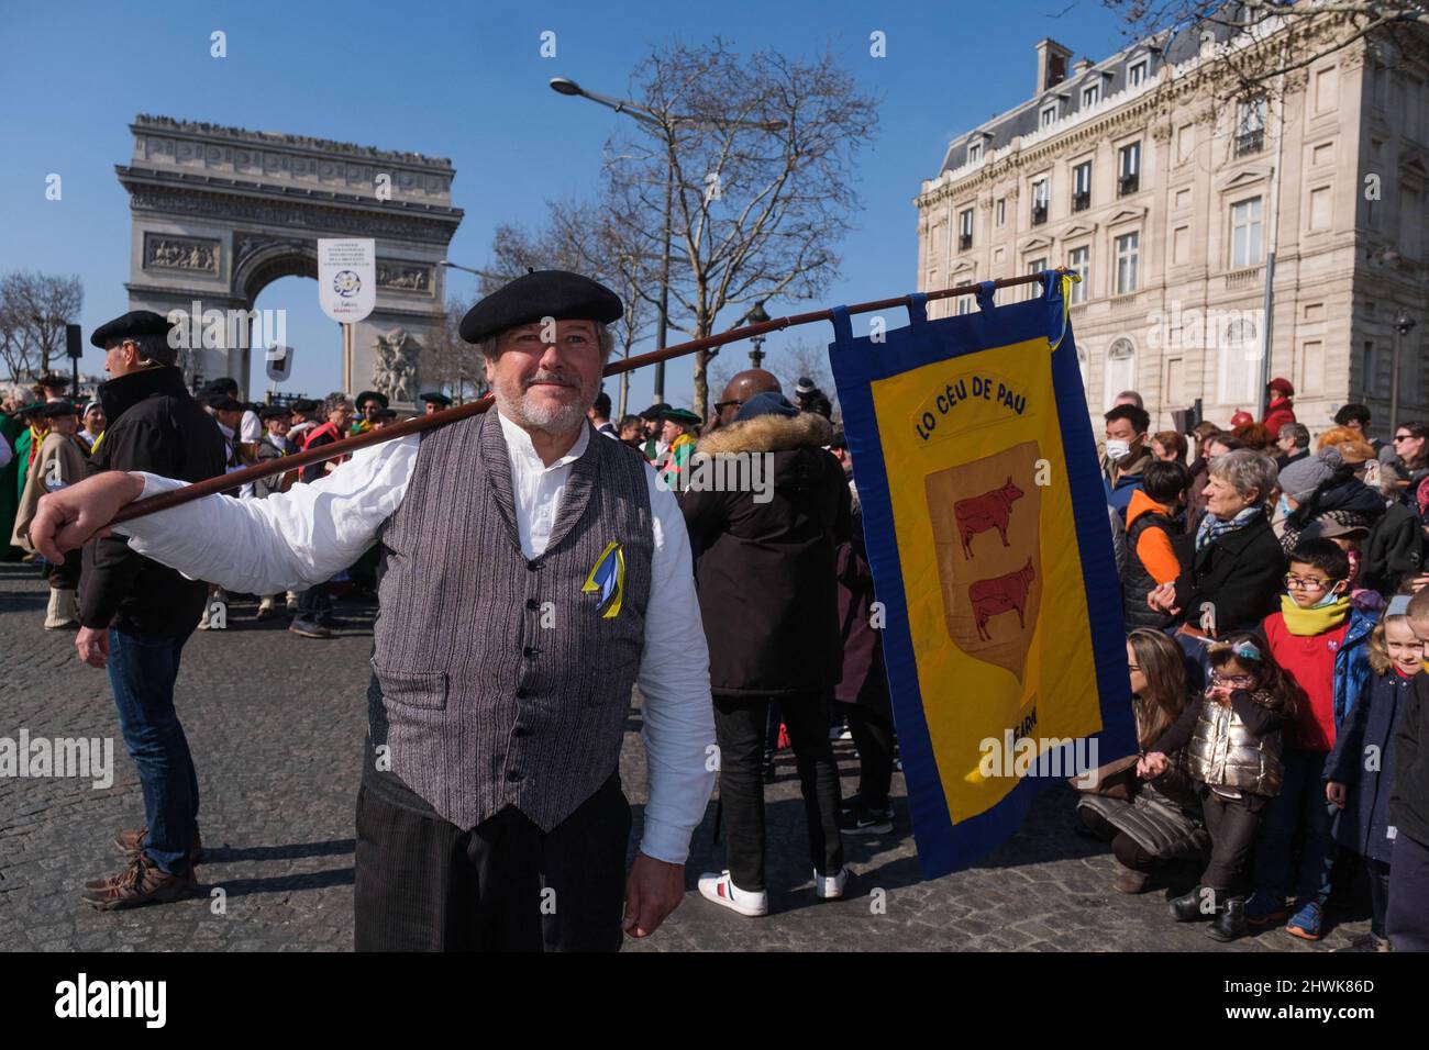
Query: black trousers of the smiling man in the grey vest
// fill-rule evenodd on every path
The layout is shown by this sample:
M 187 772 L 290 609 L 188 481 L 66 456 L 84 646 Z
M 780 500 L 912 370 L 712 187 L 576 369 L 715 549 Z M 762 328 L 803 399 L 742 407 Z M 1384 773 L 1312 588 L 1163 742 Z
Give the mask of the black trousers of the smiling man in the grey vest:
M 629 840 L 619 773 L 550 831 L 512 806 L 463 831 L 392 774 L 364 773 L 354 947 L 619 951 Z

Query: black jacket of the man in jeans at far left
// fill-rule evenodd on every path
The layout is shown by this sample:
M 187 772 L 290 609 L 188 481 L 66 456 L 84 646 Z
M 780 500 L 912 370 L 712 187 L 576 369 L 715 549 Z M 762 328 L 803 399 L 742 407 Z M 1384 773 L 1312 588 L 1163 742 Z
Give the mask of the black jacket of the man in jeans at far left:
M 227 446 L 219 424 L 183 384 L 183 373 L 154 366 L 100 384 L 109 427 L 91 470 L 146 470 L 180 481 L 223 473 Z M 199 623 L 207 586 L 129 549 L 123 536 L 84 547 L 80 623 L 126 634 L 187 634 Z

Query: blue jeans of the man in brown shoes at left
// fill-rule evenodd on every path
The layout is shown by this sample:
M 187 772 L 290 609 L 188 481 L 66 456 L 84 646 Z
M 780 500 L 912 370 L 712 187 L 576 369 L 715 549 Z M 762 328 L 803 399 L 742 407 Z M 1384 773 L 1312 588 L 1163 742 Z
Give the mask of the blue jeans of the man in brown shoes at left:
M 169 874 L 186 871 L 199 827 L 199 776 L 174 711 L 179 654 L 189 634 L 141 639 L 110 629 L 109 681 L 119 730 L 144 789 L 144 853 Z

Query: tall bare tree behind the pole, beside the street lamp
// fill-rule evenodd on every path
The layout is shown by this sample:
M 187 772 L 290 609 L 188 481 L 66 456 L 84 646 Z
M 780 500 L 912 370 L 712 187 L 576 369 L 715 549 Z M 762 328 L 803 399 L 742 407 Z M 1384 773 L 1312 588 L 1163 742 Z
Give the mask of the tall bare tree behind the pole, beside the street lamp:
M 656 49 L 634 71 L 633 94 L 650 120 L 607 146 L 606 203 L 620 256 L 646 274 L 669 243 L 672 327 L 700 339 L 726 309 L 822 293 L 859 211 L 852 169 L 873 137 L 876 101 L 830 54 L 742 59 L 719 39 Z M 659 284 L 637 286 L 653 309 Z M 716 353 L 694 354 L 700 416 Z

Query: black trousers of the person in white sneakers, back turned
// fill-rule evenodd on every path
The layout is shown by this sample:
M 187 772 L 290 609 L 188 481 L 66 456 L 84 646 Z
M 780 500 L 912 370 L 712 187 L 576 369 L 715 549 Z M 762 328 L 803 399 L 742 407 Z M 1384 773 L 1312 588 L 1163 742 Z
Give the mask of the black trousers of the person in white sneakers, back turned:
M 829 699 L 819 693 L 782 696 L 785 726 L 799 769 L 809 823 L 809 863 L 819 874 L 843 867 L 839 839 L 839 767 L 829 744 Z M 769 697 L 714 697 L 719 797 L 725 811 L 729 873 L 742 890 L 765 889 L 765 779 L 760 757 Z

